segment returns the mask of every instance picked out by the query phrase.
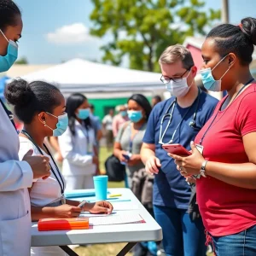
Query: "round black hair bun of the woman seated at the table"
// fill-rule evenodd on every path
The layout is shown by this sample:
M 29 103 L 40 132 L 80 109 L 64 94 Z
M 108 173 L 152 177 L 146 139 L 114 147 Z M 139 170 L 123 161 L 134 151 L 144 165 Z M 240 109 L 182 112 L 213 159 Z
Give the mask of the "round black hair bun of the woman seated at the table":
M 6 86 L 4 96 L 10 104 L 22 108 L 32 101 L 33 92 L 25 80 L 15 79 Z

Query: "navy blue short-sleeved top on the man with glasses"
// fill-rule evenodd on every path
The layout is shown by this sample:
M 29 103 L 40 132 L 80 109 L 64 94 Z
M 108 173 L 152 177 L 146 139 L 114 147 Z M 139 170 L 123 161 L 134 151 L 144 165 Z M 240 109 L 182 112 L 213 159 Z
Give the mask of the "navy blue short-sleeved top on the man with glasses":
M 159 143 L 160 139 L 160 122 L 165 115 L 167 109 L 170 107 L 175 97 L 158 103 L 151 112 L 147 130 L 143 137 L 143 143 L 155 145 L 155 156 L 160 159 L 161 167 L 160 172 L 154 178 L 154 192 L 153 203 L 156 206 L 175 207 L 178 209 L 187 209 L 189 205 L 190 187 L 186 183 L 185 178 L 177 171 L 174 160 L 169 157 L 166 151 Z M 190 150 L 190 142 L 194 141 L 197 133 L 201 130 L 202 126 L 206 124 L 207 120 L 212 116 L 214 108 L 218 100 L 212 96 L 207 95 L 206 92 L 201 91 L 198 108 L 195 118 L 195 127 L 189 126 L 189 122 L 193 119 L 197 100 L 193 103 L 192 107 L 181 108 L 176 103 L 172 123 L 169 125 L 166 135 L 163 138 L 164 143 L 168 143 L 172 139 L 172 134 L 177 128 L 177 125 L 183 119 L 183 115 L 187 113 L 183 122 L 178 127 L 172 143 L 179 143 L 184 148 Z M 169 110 L 171 113 L 172 108 Z M 165 131 L 169 117 L 163 122 L 162 131 Z

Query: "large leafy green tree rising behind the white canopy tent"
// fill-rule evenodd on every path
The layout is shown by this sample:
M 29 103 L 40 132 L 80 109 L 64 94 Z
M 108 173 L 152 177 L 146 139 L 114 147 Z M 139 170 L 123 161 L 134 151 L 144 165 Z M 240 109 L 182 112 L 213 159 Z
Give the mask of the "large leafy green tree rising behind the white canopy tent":
M 119 65 L 125 55 L 130 67 L 159 71 L 161 52 L 171 44 L 182 44 L 195 34 L 206 34 L 207 26 L 219 20 L 220 10 L 202 9 L 200 0 L 91 0 L 90 14 L 96 37 L 112 35 L 102 46 L 102 61 Z

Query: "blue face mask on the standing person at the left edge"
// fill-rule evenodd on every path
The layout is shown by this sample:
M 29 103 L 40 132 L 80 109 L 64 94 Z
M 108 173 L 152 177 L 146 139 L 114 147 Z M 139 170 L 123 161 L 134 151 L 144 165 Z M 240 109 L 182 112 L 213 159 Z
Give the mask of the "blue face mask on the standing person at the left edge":
M 6 72 L 9 70 L 10 67 L 14 65 L 15 61 L 17 60 L 18 44 L 6 38 L 1 29 L 0 33 L 2 33 L 3 37 L 9 43 L 7 48 L 7 54 L 5 56 L 0 55 L 0 72 Z

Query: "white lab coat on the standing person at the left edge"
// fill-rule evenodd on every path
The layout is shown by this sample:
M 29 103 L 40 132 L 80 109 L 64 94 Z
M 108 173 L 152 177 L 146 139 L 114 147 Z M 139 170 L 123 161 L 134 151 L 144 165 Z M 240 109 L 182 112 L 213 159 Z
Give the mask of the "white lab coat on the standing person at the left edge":
M 0 256 L 30 255 L 31 212 L 27 188 L 33 173 L 19 161 L 19 137 L 0 104 Z

